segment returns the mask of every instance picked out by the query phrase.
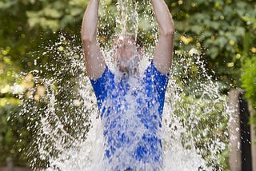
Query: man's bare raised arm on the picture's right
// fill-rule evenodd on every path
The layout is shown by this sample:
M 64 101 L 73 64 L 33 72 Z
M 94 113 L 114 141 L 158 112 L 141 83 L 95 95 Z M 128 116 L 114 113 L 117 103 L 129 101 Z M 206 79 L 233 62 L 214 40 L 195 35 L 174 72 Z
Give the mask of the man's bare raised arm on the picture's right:
M 159 30 L 153 61 L 162 74 L 167 74 L 170 71 L 174 50 L 174 22 L 164 0 L 151 0 L 151 2 Z

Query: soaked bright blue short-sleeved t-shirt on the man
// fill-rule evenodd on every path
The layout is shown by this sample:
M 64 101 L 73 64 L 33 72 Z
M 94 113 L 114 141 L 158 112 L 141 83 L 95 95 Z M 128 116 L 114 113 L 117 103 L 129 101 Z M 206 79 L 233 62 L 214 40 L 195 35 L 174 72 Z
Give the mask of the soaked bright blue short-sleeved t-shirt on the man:
M 162 165 L 158 131 L 168 77 L 151 62 L 140 78 L 118 78 L 106 66 L 101 78 L 91 80 L 104 125 L 105 155 L 112 169 L 150 165 L 158 170 Z

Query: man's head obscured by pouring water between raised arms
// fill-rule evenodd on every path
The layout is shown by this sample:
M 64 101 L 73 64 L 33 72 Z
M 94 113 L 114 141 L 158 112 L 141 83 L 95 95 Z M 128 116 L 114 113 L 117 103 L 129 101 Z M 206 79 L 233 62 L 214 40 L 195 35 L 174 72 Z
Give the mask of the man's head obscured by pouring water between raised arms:
M 130 35 L 119 36 L 114 39 L 114 63 L 123 73 L 138 74 L 138 65 L 142 58 L 142 50 Z

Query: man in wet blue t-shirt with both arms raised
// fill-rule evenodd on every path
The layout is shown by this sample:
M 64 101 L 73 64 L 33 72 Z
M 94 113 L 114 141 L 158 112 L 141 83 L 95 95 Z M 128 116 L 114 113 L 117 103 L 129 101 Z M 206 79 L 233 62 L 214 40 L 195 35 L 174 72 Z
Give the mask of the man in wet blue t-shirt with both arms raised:
M 142 53 L 134 38 L 114 40 L 112 72 L 97 43 L 99 0 L 90 0 L 82 22 L 87 75 L 94 87 L 104 125 L 106 170 L 159 170 L 162 109 L 172 62 L 174 24 L 164 0 L 151 0 L 158 22 L 153 61 L 138 72 Z

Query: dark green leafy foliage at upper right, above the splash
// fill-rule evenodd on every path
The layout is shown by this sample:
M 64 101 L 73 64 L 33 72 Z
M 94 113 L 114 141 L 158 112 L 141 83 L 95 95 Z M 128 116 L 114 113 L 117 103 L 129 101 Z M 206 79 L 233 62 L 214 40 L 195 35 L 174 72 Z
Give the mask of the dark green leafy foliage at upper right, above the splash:
M 204 54 L 207 68 L 226 88 L 239 86 L 239 68 L 247 41 L 254 39 L 255 30 L 246 24 L 256 16 L 254 1 L 166 1 L 170 6 L 177 30 L 176 49 L 197 49 Z M 247 22 L 250 18 L 250 22 Z M 181 46 L 178 46 L 180 41 Z M 251 47 L 250 47 L 251 48 Z M 226 89 L 227 90 L 227 89 Z

